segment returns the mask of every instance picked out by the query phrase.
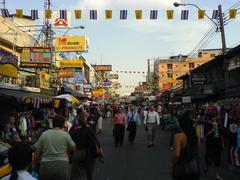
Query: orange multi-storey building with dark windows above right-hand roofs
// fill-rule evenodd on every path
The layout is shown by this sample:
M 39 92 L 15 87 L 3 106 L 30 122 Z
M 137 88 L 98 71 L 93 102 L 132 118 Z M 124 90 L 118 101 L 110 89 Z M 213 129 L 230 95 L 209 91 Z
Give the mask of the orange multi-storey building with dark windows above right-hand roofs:
M 213 59 L 219 55 L 219 49 L 199 50 L 197 56 L 171 56 L 168 59 L 157 59 L 154 62 L 154 71 L 157 77 L 157 86 L 161 92 L 180 86 L 181 81 L 177 78 L 183 76 L 196 67 Z

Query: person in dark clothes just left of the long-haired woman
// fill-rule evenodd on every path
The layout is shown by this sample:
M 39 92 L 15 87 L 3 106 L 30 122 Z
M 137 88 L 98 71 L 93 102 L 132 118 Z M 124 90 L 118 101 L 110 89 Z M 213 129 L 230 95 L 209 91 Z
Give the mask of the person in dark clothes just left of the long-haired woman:
M 172 110 L 172 114 L 167 122 L 167 127 L 171 132 L 169 149 L 173 150 L 173 140 L 176 133 L 179 132 L 178 122 L 177 122 L 177 112 L 175 109 Z

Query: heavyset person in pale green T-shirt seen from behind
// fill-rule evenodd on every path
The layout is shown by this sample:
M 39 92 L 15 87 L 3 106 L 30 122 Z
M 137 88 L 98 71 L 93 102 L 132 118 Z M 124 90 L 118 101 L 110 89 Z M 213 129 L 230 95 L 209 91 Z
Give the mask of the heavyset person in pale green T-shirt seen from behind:
M 53 129 L 42 133 L 36 143 L 36 163 L 41 155 L 39 178 L 42 180 L 66 180 L 69 178 L 68 152 L 75 151 L 71 136 L 63 130 L 65 118 L 56 115 Z

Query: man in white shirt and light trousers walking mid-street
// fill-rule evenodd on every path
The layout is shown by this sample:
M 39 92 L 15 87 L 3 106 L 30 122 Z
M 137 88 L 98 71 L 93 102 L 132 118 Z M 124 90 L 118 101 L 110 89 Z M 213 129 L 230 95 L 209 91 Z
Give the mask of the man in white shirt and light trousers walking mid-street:
M 160 125 L 158 113 L 155 111 L 154 106 L 145 113 L 144 125 L 148 133 L 148 147 L 153 147 L 156 137 L 156 127 Z

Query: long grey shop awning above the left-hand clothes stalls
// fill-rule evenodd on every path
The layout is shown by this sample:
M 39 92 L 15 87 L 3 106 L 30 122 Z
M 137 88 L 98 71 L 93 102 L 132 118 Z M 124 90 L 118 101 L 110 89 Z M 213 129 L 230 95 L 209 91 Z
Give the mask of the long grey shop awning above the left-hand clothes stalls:
M 13 96 L 17 98 L 33 98 L 33 99 L 52 99 L 51 96 L 34 93 L 34 92 L 27 92 L 27 91 L 19 91 L 13 89 L 1 89 L 0 88 L 0 96 Z

